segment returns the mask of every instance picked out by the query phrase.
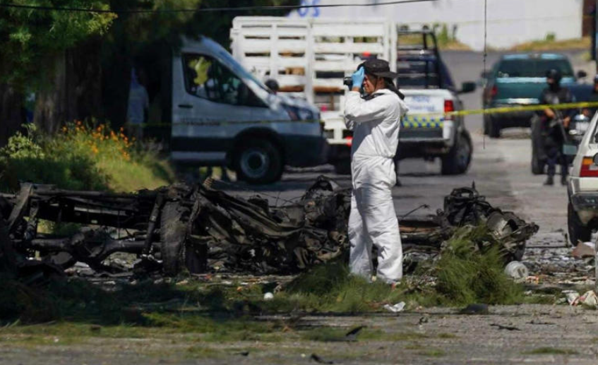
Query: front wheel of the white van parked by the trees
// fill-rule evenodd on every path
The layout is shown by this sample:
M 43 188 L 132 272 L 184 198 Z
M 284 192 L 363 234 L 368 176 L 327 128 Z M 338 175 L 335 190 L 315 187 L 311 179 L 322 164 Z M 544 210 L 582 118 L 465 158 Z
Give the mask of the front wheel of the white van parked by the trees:
M 237 176 L 249 184 L 270 184 L 280 180 L 284 165 L 280 150 L 265 139 L 244 142 L 235 154 Z

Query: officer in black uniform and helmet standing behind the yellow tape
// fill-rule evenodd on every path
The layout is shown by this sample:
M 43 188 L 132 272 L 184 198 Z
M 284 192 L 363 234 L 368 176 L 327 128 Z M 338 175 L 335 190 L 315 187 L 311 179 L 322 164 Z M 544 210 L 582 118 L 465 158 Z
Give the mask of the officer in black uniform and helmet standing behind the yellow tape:
M 540 104 L 563 104 L 573 102 L 573 94 L 568 88 L 561 87 L 561 71 L 553 68 L 546 71 L 545 88 L 540 95 Z M 554 185 L 556 164 L 561 165 L 561 184 L 567 184 L 568 163 L 563 155 L 563 144 L 568 133 L 571 121 L 571 111 L 555 111 L 546 108 L 540 112 L 542 119 L 542 136 L 544 137 L 544 150 L 546 151 L 546 164 L 548 177 L 544 185 Z

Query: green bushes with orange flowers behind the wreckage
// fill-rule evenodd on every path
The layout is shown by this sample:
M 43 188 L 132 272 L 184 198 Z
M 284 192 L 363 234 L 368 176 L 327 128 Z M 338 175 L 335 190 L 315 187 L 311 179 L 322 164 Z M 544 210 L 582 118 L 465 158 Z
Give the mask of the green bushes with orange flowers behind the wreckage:
M 47 136 L 32 124 L 0 150 L 0 189 L 16 191 L 19 181 L 54 184 L 59 189 L 136 191 L 174 181 L 166 160 L 143 150 L 123 131 L 104 124 L 66 124 Z

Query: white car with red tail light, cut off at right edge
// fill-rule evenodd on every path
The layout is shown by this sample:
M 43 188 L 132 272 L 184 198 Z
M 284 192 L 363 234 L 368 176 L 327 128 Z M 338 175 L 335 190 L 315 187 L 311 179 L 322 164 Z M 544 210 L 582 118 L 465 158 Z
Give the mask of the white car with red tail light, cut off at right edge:
M 567 225 L 571 244 L 590 241 L 598 229 L 598 113 L 578 146 L 570 169 Z

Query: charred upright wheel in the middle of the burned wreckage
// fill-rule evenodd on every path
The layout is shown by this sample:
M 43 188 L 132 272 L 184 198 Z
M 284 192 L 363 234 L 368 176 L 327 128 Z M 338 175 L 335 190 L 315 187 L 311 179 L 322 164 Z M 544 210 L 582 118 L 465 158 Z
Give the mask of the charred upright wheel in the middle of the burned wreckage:
M 184 264 L 184 248 L 187 238 L 186 213 L 176 201 L 167 202 L 160 212 L 160 255 L 162 270 L 167 276 L 179 273 Z

